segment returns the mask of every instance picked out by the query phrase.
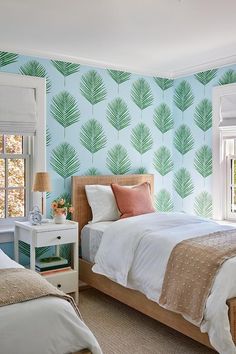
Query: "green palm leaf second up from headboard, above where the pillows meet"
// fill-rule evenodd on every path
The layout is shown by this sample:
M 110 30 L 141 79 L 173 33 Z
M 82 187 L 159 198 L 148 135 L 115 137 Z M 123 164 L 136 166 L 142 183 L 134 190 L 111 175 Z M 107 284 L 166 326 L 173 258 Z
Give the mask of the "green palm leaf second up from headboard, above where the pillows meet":
M 107 106 L 107 120 L 119 131 L 128 127 L 131 122 L 128 106 L 122 98 L 115 98 Z

